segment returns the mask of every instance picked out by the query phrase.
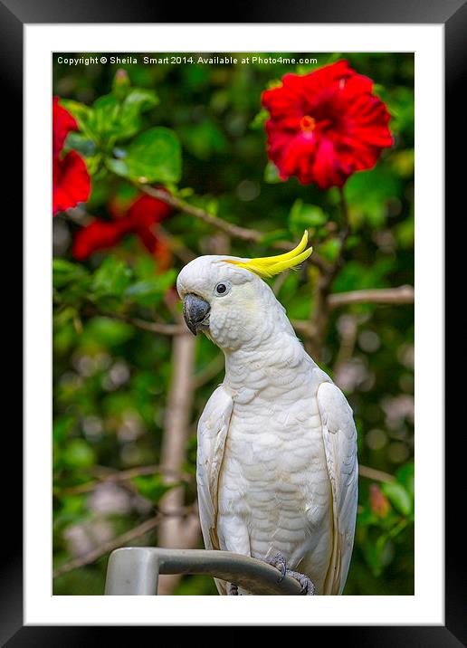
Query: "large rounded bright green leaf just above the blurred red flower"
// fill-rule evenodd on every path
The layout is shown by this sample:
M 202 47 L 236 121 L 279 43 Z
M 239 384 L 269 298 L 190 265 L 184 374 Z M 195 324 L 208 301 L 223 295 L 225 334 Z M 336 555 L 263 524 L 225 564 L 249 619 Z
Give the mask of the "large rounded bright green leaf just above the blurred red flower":
M 149 129 L 138 136 L 122 159 L 108 159 L 110 170 L 138 182 L 178 182 L 182 173 L 180 142 L 173 130 Z

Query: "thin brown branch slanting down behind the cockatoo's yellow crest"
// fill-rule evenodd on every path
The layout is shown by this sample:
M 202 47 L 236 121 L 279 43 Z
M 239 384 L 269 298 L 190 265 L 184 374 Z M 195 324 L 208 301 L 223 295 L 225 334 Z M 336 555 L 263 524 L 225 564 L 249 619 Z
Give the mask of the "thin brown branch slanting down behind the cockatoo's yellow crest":
M 161 200 L 163 203 L 167 203 L 174 209 L 195 216 L 195 218 L 203 221 L 204 223 L 215 227 L 221 232 L 224 232 L 235 239 L 240 239 L 242 241 L 249 241 L 250 243 L 262 243 L 265 233 L 258 232 L 257 230 L 247 229 L 246 227 L 240 227 L 233 223 L 227 223 L 222 218 L 208 214 L 201 207 L 195 207 L 195 205 L 190 205 L 186 203 L 182 198 L 177 198 L 175 195 L 168 194 L 164 189 L 155 189 L 153 186 L 148 185 L 137 185 L 138 189 L 145 194 L 151 195 L 157 200 Z M 292 250 L 295 245 L 289 241 L 276 241 L 272 243 L 272 247 L 279 250 Z M 323 272 L 329 272 L 331 266 L 329 262 L 319 256 L 317 253 L 313 253 L 310 256 L 310 262 L 320 268 Z

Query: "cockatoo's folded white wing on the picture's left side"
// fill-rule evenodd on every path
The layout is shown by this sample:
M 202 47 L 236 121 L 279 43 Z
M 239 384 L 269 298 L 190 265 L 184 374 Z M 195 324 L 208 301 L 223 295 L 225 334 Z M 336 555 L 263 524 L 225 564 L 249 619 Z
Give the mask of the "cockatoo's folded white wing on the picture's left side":
M 206 549 L 219 549 L 217 538 L 217 502 L 219 474 L 224 458 L 225 439 L 234 407 L 232 396 L 218 386 L 208 400 L 198 423 L 196 482 L 201 530 Z M 225 594 L 224 581 L 215 579 L 219 592 Z

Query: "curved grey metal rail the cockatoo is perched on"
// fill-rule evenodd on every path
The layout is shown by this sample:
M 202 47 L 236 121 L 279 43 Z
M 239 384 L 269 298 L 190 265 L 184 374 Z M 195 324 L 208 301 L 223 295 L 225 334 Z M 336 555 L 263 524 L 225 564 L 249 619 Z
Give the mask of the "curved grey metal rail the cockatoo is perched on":
M 157 595 L 159 574 L 204 574 L 243 587 L 255 595 L 300 595 L 300 583 L 281 580 L 276 567 L 230 551 L 128 547 L 110 554 L 105 594 Z

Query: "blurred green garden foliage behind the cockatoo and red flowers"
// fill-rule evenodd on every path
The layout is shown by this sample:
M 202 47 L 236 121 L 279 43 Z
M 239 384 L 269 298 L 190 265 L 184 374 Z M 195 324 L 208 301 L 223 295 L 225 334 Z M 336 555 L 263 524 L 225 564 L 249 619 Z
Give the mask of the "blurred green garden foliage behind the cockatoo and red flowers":
M 413 54 L 317 53 L 312 54 L 317 64 L 308 66 L 151 65 L 142 63 L 143 54 L 137 63 L 112 64 L 112 55 L 123 56 L 108 53 L 106 64 L 70 66 L 58 60 L 71 54 L 57 53 L 53 61 L 53 93 L 80 124 L 65 150 L 74 148 L 86 159 L 92 185 L 85 205 L 53 219 L 57 595 L 103 594 L 107 559 L 115 546 L 157 545 L 164 538 L 170 543 L 174 529 L 184 534 L 188 528 L 185 540 L 202 546 L 195 527 L 196 422 L 222 382 L 224 365 L 221 352 L 204 336 L 188 342 L 183 332 L 174 284 L 184 263 L 204 253 L 272 254 L 274 242 L 296 242 L 305 227 L 321 257 L 332 262 L 336 254 L 338 190 L 301 186 L 295 178 L 277 181 L 267 164 L 261 93 L 284 73 L 304 73 L 346 58 L 375 81 L 376 94 L 392 117 L 394 147 L 384 151 L 374 169 L 351 176 L 345 186 L 351 233 L 332 291 L 414 281 Z M 171 55 L 157 54 L 164 56 Z M 128 120 L 119 123 L 114 103 L 130 90 L 139 95 L 132 95 Z M 113 99 L 102 100 L 106 96 Z M 90 117 L 86 110 L 91 106 Z M 157 147 L 172 147 L 170 156 L 161 161 L 157 153 L 148 154 L 141 162 L 150 129 L 157 137 L 162 133 Z M 131 155 L 143 168 L 130 173 L 121 162 L 129 166 Z M 158 165 L 158 172 L 148 176 L 144 164 Z M 141 176 L 189 205 L 264 236 L 256 243 L 242 241 L 174 209 L 154 224 L 152 253 L 141 236 L 128 232 L 107 249 L 80 256 L 73 248 L 80 231 L 95 218 L 112 223 L 125 214 L 139 195 L 135 177 L 141 181 Z M 272 282 L 290 319 L 310 320 L 317 272 L 307 263 Z M 300 334 L 299 325 L 298 334 L 308 345 L 305 329 Z M 191 348 L 184 352 L 184 344 Z M 185 353 L 183 370 L 190 373 L 185 402 L 176 397 L 176 381 L 183 379 L 176 373 L 177 353 Z M 331 310 L 319 356 L 354 410 L 362 465 L 356 542 L 344 594 L 413 594 L 413 305 L 370 302 Z M 182 420 L 180 430 L 178 423 L 177 434 L 185 436 L 174 458 L 165 437 L 177 425 L 170 411 L 176 407 L 184 410 L 186 424 Z M 164 512 L 170 491 L 183 504 L 174 516 Z M 182 544 L 185 540 L 180 537 Z M 174 579 L 167 592 L 216 594 L 205 577 Z

